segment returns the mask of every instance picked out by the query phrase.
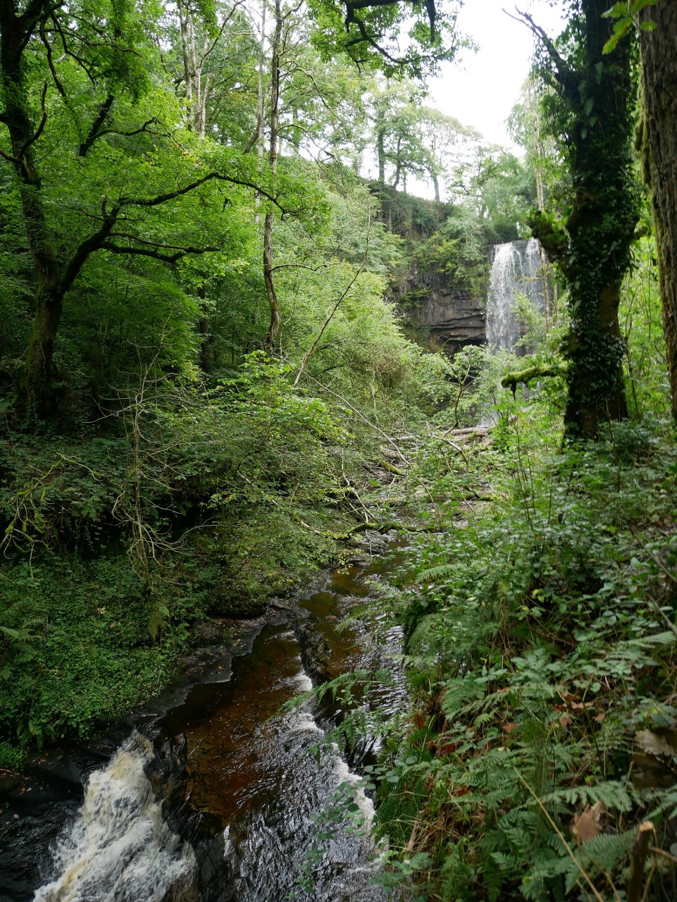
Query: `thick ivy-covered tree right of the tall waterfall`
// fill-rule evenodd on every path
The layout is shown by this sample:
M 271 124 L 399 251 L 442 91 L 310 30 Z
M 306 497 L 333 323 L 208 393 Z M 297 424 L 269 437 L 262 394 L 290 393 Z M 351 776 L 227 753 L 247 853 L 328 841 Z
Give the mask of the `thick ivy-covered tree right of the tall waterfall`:
M 627 416 L 618 304 L 638 216 L 631 157 L 635 95 L 631 46 L 604 54 L 612 28 L 603 18 L 607 5 L 574 0 L 559 47 L 521 14 L 542 42 L 541 71 L 555 98 L 552 127 L 572 179 L 564 230 L 542 213 L 530 225 L 560 263 L 571 292 L 565 425 L 582 437 L 597 436 L 605 420 Z

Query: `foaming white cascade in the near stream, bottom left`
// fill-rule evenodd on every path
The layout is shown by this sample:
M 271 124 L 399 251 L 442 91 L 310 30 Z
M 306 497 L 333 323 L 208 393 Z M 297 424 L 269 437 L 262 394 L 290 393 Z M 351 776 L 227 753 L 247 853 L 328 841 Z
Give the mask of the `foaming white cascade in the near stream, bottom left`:
M 34 902 L 163 902 L 193 898 L 195 854 L 162 818 L 139 733 L 91 774 L 75 821 L 52 849 L 54 879 Z

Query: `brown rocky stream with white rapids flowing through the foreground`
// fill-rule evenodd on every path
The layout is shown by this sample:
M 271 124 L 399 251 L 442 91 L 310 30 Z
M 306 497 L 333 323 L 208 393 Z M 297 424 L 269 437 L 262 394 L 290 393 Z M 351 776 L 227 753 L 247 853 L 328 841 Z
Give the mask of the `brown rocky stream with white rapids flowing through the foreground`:
M 356 668 L 392 675 L 371 704 L 393 714 L 406 706 L 399 628 L 376 641 L 361 621 L 341 627 L 378 591 L 373 581 L 391 560 L 335 569 L 274 603 L 242 648 L 217 651 L 193 685 L 138 713 L 119 742 L 109 737 L 106 763 L 91 754 L 78 763 L 79 750 L 47 767 L 41 783 L 15 788 L 0 824 L 0 900 L 282 902 L 292 892 L 299 902 L 383 900 L 371 881 L 373 805 L 355 772 L 373 760 L 374 738 L 361 737 L 349 767 L 335 745 L 321 744 L 343 716 L 340 698 L 282 706 Z M 51 798 L 59 768 L 62 782 L 75 776 Z M 316 815 L 346 790 L 366 829 L 339 816 L 327 831 Z M 320 831 L 331 836 L 318 842 Z M 298 866 L 314 848 L 313 887 L 303 888 Z

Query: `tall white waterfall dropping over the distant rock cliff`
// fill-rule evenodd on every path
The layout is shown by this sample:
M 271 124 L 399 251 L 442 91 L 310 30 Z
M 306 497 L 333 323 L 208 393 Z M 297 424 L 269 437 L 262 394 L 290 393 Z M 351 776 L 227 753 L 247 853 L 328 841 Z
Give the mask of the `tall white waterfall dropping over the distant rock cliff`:
M 525 294 L 537 310 L 544 308 L 541 246 L 535 238 L 494 244 L 487 300 L 487 343 L 513 351 L 522 330 L 515 314 L 517 296 Z

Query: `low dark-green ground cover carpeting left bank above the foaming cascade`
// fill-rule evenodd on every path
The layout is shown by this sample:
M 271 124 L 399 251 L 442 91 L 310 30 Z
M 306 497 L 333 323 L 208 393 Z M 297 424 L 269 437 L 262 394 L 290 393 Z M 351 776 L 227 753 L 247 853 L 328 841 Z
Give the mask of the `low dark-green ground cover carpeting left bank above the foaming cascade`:
M 5 564 L 2 583 L 2 618 L 13 634 L 0 650 L 0 733 L 21 744 L 87 737 L 155 695 L 185 645 L 181 621 L 200 600 L 185 587 L 164 594 L 174 625 L 157 644 L 145 627 L 142 583 L 124 557 Z

